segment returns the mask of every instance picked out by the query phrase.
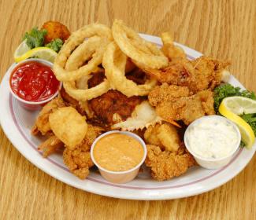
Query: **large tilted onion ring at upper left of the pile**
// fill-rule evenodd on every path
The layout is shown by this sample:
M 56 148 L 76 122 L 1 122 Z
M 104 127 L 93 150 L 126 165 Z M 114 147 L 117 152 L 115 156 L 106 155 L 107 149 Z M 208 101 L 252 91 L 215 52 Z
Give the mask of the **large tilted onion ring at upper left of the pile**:
M 85 40 L 86 38 L 89 39 Z M 102 62 L 106 45 L 111 40 L 113 40 L 111 30 L 103 24 L 90 24 L 72 33 L 55 59 L 54 74 L 56 78 L 60 81 L 72 81 L 95 71 L 95 68 Z M 77 52 L 73 52 L 73 50 L 77 50 Z M 75 53 L 73 56 L 71 56 L 72 52 Z M 69 57 L 73 57 L 73 61 L 78 63 L 74 63 L 76 70 L 68 71 L 65 69 Z M 78 68 L 89 58 L 91 60 L 88 64 Z

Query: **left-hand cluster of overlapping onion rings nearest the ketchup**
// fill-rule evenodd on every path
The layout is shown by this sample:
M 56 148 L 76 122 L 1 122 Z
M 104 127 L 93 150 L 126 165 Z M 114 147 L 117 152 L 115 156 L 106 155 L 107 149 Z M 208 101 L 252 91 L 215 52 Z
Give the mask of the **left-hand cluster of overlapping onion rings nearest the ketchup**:
M 103 24 L 90 24 L 72 33 L 65 42 L 54 62 L 54 74 L 63 82 L 66 92 L 79 101 L 87 101 L 105 94 L 109 82 L 105 80 L 98 86 L 87 89 L 76 88 L 76 81 L 96 72 L 102 64 L 103 53 L 112 40 L 109 27 Z M 84 63 L 87 63 L 83 65 Z

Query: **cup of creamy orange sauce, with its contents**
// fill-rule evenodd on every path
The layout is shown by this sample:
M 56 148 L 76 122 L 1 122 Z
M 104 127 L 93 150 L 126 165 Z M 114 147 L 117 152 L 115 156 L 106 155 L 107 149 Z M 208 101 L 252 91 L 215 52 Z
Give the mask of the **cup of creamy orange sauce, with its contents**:
M 91 145 L 91 159 L 102 177 L 113 183 L 132 181 L 147 156 L 147 147 L 132 132 L 113 130 Z

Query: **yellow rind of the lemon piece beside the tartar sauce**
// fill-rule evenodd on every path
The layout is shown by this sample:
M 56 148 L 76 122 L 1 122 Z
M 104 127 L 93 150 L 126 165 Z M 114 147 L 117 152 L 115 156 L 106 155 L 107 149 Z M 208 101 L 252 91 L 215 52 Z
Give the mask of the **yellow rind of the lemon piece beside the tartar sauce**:
M 252 145 L 254 145 L 255 141 L 254 131 L 251 129 L 250 125 L 246 121 L 244 121 L 241 117 L 237 116 L 235 112 L 230 111 L 230 109 L 233 108 L 227 106 L 227 104 L 229 104 L 230 102 L 225 101 L 225 99 L 229 98 L 230 97 L 226 97 L 224 98 L 223 101 L 221 101 L 219 112 L 221 113 L 222 116 L 226 117 L 227 119 L 230 119 L 233 123 L 236 123 L 237 127 L 239 127 L 242 141 L 244 142 L 247 148 L 251 148 Z

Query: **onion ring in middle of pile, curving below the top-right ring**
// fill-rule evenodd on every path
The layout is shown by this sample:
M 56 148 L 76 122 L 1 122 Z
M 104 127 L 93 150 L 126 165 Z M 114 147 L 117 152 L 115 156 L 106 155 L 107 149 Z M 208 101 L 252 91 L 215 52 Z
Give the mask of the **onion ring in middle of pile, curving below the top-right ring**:
M 109 43 L 103 55 L 102 66 L 105 68 L 105 75 L 110 86 L 127 97 L 149 94 L 156 85 L 156 80 L 150 79 L 143 85 L 137 85 L 132 80 L 126 79 L 126 61 L 126 55 L 121 52 L 117 44 L 115 42 Z

